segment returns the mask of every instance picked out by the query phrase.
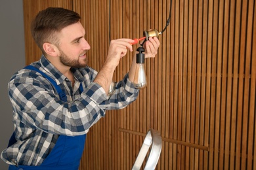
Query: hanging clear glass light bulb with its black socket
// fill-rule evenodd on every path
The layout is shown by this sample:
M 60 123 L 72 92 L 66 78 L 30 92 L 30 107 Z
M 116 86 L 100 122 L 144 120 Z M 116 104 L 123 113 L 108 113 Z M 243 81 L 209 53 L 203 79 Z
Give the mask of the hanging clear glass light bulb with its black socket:
M 146 87 L 146 72 L 144 69 L 145 57 L 144 54 L 142 53 L 145 50 L 143 47 L 139 47 L 137 51 L 139 52 L 139 54 L 136 55 L 136 68 L 133 84 L 135 88 L 142 89 Z

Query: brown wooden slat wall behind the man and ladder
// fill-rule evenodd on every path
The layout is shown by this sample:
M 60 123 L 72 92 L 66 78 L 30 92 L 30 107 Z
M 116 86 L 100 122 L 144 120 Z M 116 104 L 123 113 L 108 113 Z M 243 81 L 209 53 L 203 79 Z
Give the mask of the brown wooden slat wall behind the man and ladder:
M 30 21 L 45 7 L 82 16 L 99 70 L 109 42 L 161 31 L 170 0 L 24 0 L 26 63 L 41 52 Z M 150 128 L 163 140 L 157 169 L 256 169 L 256 3 L 254 0 L 173 1 L 171 24 L 155 59 L 146 60 L 148 87 L 137 101 L 91 127 L 80 169 L 131 169 Z M 138 46 L 134 46 L 135 51 Z M 114 80 L 129 71 L 121 59 Z

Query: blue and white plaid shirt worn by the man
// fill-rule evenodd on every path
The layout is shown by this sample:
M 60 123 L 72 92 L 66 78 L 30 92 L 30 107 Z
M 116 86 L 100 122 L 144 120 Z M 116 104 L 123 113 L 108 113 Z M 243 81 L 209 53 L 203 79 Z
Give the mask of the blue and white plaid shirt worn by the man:
M 61 101 L 54 86 L 32 70 L 21 69 L 9 82 L 17 143 L 3 150 L 1 158 L 12 165 L 41 165 L 54 147 L 59 135 L 83 135 L 106 110 L 122 109 L 137 98 L 139 90 L 128 75 L 118 82 L 114 94 L 106 96 L 93 82 L 97 72 L 91 67 L 72 68 L 75 84 L 62 75 L 42 56 L 32 63 L 51 76 L 66 92 L 68 102 Z M 82 84 L 83 92 L 79 86 Z

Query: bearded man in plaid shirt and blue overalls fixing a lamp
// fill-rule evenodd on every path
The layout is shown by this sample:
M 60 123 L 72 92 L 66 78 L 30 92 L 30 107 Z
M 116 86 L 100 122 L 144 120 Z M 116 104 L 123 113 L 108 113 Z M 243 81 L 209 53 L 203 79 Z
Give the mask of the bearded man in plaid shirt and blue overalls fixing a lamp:
M 79 20 L 72 10 L 48 8 L 32 22 L 43 55 L 9 82 L 14 133 L 1 154 L 9 169 L 78 169 L 89 128 L 106 110 L 122 109 L 137 98 L 135 60 L 108 94 L 119 59 L 133 50 L 133 40 L 111 41 L 97 73 L 87 66 L 90 45 Z M 145 58 L 154 58 L 159 46 L 156 37 L 150 38 Z

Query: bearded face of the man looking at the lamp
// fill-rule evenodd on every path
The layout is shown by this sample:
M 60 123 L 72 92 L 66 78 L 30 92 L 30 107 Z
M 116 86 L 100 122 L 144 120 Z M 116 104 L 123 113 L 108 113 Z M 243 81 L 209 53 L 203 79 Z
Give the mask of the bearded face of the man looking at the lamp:
M 68 67 L 85 67 L 87 50 L 91 48 L 85 40 L 85 29 L 80 22 L 64 27 L 59 34 L 58 50 L 60 62 Z

